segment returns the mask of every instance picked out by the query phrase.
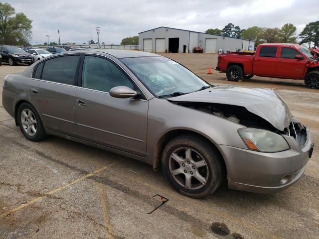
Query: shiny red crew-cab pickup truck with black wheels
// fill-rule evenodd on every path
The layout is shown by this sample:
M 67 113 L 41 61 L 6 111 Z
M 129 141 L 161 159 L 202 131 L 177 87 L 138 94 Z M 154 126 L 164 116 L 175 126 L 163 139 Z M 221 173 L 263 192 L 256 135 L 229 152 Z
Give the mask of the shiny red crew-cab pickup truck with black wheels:
M 217 71 L 229 81 L 256 76 L 304 79 L 309 88 L 319 89 L 319 61 L 298 44 L 265 43 L 255 53 L 228 52 L 218 55 Z

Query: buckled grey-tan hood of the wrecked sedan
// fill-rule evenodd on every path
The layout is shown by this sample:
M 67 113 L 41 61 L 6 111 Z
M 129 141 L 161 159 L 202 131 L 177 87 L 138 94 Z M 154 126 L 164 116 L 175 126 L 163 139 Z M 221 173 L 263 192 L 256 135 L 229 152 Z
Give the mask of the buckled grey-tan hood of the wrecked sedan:
M 168 100 L 242 106 L 281 131 L 292 121 L 292 115 L 283 99 L 274 90 L 267 88 L 217 86 Z

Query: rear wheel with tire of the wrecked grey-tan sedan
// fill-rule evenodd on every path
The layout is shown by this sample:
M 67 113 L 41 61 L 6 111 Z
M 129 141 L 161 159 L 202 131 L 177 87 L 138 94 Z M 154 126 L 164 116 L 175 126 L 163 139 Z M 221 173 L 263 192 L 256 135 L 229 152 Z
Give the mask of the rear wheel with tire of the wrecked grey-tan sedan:
M 30 104 L 22 103 L 16 117 L 20 130 L 26 139 L 36 142 L 47 136 L 38 113 Z

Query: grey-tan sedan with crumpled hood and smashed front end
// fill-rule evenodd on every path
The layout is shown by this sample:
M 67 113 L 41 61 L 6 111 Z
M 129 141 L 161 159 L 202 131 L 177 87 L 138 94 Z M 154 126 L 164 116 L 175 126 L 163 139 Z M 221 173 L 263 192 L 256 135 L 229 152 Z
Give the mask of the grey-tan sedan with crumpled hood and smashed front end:
M 139 51 L 48 56 L 5 77 L 5 110 L 32 141 L 48 134 L 161 168 L 180 193 L 278 192 L 304 173 L 313 144 L 271 89 L 212 86 Z

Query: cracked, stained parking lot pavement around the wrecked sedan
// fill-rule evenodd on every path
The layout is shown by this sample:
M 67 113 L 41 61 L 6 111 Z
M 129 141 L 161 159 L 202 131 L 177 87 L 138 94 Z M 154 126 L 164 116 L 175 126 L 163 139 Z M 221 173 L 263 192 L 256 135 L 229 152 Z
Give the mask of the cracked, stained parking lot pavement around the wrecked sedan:
M 275 89 L 293 115 L 311 127 L 315 149 L 301 180 L 271 195 L 224 185 L 208 198 L 187 198 L 145 163 L 55 136 L 27 141 L 0 97 L 0 238 L 319 237 L 319 90 L 299 80 L 261 77 L 229 83 L 225 74 L 207 74 L 216 54 L 164 55 L 211 84 Z M 26 67 L 2 64 L 0 85 L 5 75 Z M 148 214 L 163 200 L 153 197 L 157 194 L 168 201 Z M 228 235 L 219 235 L 225 231 Z

